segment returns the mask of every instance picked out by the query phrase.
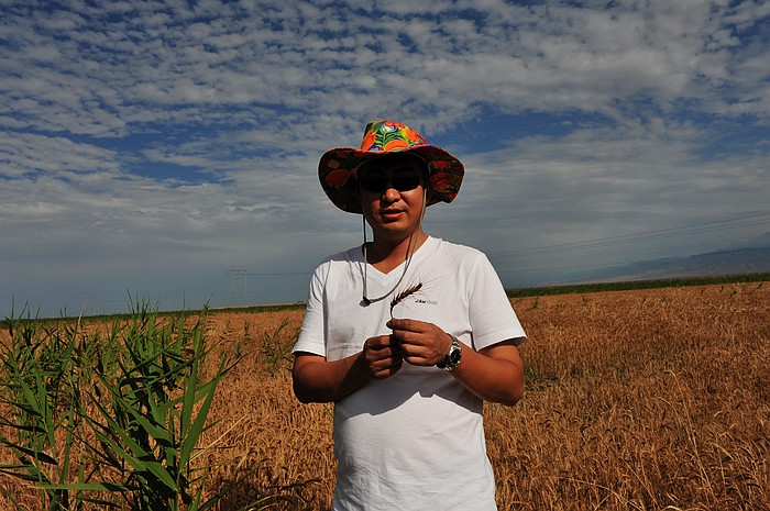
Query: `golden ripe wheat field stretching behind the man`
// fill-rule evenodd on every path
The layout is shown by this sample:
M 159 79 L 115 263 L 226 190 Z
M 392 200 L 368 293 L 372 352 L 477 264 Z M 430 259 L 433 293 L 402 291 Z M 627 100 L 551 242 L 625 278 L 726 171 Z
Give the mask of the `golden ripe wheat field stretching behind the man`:
M 484 411 L 499 509 L 770 510 L 769 284 L 512 299 L 529 337 L 525 397 Z M 333 408 L 297 402 L 290 362 L 275 358 L 302 313 L 206 318 L 208 343 L 240 356 L 199 444 L 200 463 L 232 462 L 207 490 L 256 468 L 220 510 L 329 507 Z M 0 486 L 42 509 L 29 485 Z M 0 509 L 14 509 L 2 493 Z

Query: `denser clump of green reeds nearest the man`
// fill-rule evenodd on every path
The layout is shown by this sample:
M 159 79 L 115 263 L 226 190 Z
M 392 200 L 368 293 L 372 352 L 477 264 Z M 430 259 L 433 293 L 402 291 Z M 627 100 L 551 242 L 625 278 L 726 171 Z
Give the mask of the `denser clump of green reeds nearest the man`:
M 132 509 L 205 509 L 206 470 L 198 475 L 191 462 L 217 384 L 230 366 L 222 359 L 211 379 L 201 379 L 209 354 L 201 324 L 187 333 L 180 320 L 173 332 L 141 319 L 128 330 L 124 359 L 97 371 L 107 402 L 95 399 L 99 413 L 88 418 L 102 447 L 91 454 L 128 475 L 123 490 L 132 490 Z

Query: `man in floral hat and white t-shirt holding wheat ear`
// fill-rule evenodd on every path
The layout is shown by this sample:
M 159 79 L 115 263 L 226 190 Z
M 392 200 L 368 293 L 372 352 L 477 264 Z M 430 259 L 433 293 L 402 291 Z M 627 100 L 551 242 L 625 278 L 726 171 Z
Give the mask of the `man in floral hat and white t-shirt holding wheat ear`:
M 294 351 L 297 398 L 334 402 L 336 511 L 496 509 L 482 404 L 521 398 L 526 337 L 486 256 L 422 230 L 463 176 L 393 121 L 319 163 L 329 199 L 374 234 L 316 269 Z

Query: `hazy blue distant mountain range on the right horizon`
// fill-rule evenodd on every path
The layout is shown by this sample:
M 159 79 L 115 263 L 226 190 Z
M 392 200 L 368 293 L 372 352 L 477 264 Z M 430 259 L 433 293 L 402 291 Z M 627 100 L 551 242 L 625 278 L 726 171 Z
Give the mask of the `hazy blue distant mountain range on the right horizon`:
M 654 280 L 770 273 L 770 233 L 721 251 L 690 257 L 641 260 L 583 275 L 583 282 Z

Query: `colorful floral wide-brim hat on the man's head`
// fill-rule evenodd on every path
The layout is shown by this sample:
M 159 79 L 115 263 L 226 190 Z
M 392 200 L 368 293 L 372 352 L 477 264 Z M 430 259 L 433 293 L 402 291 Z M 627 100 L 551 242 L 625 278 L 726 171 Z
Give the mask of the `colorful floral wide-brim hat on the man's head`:
M 376 120 L 366 124 L 361 148 L 338 147 L 327 151 L 318 164 L 321 188 L 342 211 L 361 213 L 355 171 L 364 162 L 394 153 L 408 153 L 428 164 L 428 184 L 432 191 L 428 205 L 452 202 L 460 191 L 465 169 L 458 158 L 404 124 Z

